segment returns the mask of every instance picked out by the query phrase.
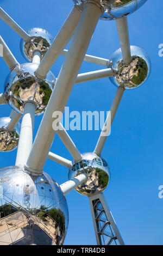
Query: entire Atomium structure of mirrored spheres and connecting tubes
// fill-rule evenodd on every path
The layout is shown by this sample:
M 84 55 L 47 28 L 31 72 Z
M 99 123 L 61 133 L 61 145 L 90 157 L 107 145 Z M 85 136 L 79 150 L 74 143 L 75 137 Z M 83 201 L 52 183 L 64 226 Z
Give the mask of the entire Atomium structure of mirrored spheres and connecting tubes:
M 145 51 L 130 46 L 127 21 L 127 15 L 146 0 L 73 2 L 54 39 L 42 28 L 25 32 L 0 8 L 0 18 L 21 36 L 21 51 L 27 60 L 18 63 L 0 36 L 3 59 L 10 69 L 0 104 L 9 103 L 12 108 L 10 117 L 0 119 L 0 151 L 18 147 L 15 166 L 0 170 L 0 245 L 62 245 L 68 227 L 65 195 L 74 188 L 89 197 L 97 244 L 124 245 L 102 193 L 110 180 L 110 167 L 101 153 L 123 93 L 141 86 L 150 74 Z M 99 19 L 116 22 L 121 48 L 110 59 L 86 54 Z M 60 55 L 65 60 L 55 78 L 50 69 Z M 105 69 L 78 74 L 83 61 Z M 103 77 L 110 78 L 117 92 L 95 150 L 81 154 L 60 123 L 62 115 L 53 124 L 54 113 L 64 113 L 74 84 Z M 43 117 L 33 143 L 34 120 L 40 114 Z M 49 151 L 56 133 L 73 161 Z M 68 168 L 68 181 L 59 186 L 43 172 L 47 158 Z

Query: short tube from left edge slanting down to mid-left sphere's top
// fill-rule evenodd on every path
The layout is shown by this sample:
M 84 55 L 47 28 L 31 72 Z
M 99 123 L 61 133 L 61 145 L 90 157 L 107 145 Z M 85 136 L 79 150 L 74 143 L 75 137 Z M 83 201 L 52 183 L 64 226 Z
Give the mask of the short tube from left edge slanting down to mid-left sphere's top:
M 5 63 L 8 65 L 10 70 L 14 69 L 18 65 L 18 62 L 15 59 L 12 52 L 10 51 L 7 44 L 5 44 L 1 35 L 0 35 L 0 44 L 2 45 L 2 48 L 3 48 L 2 58 L 4 59 Z

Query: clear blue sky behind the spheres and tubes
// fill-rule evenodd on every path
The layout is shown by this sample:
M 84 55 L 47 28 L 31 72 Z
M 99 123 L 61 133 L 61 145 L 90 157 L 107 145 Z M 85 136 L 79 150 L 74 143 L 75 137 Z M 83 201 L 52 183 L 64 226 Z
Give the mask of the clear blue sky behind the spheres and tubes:
M 158 2 L 158 4 L 156 4 Z M 52 35 L 73 7 L 71 0 L 0 0 L 1 7 L 25 30 L 45 28 Z M 134 14 L 128 16 L 131 45 L 142 47 L 149 54 L 152 72 L 142 87 L 124 93 L 120 108 L 112 124 L 111 136 L 103 149 L 103 157 L 111 168 L 111 181 L 104 195 L 127 245 L 163 244 L 163 199 L 158 198 L 158 187 L 163 185 L 163 57 L 158 56 L 158 45 L 163 43 L 162 1 L 148 0 Z M 20 52 L 20 38 L 0 20 L 1 35 L 18 62 L 26 60 Z M 67 46 L 68 47 L 68 46 Z M 109 58 L 119 48 L 114 21 L 99 21 L 87 53 Z M 57 77 L 64 57 L 59 57 L 52 68 Z M 1 92 L 9 69 L 0 58 Z M 80 72 L 101 69 L 83 63 Z M 116 87 L 109 78 L 75 85 L 67 106 L 70 111 L 109 110 Z M 0 106 L 0 117 L 10 114 L 10 106 Z M 35 119 L 35 134 L 42 117 Z M 81 153 L 93 151 L 99 131 L 69 131 Z M 58 136 L 52 149 L 72 159 Z M 0 153 L 1 168 L 15 164 L 16 150 Z M 59 184 L 67 180 L 67 169 L 47 160 L 45 171 Z M 65 245 L 95 245 L 88 198 L 72 191 L 66 196 L 70 222 Z

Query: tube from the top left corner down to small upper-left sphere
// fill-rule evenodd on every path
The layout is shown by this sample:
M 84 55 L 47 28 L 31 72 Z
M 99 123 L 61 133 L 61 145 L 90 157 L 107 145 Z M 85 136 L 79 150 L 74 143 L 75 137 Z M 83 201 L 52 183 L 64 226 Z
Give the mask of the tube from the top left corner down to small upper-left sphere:
M 5 13 L 5 11 L 0 7 L 0 18 L 9 25 L 18 35 L 21 36 L 21 38 L 24 39 L 24 41 L 28 41 L 30 39 L 30 36 L 20 27 L 17 25 L 17 23 L 12 20 L 12 18 Z

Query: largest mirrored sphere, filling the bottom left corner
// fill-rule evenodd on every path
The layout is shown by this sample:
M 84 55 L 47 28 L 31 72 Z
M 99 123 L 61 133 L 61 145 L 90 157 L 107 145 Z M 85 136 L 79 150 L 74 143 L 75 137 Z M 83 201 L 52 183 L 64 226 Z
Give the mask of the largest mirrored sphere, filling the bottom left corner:
M 0 170 L 0 245 L 62 245 L 67 226 L 67 202 L 51 176 Z

